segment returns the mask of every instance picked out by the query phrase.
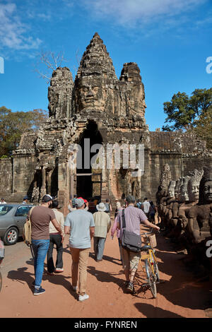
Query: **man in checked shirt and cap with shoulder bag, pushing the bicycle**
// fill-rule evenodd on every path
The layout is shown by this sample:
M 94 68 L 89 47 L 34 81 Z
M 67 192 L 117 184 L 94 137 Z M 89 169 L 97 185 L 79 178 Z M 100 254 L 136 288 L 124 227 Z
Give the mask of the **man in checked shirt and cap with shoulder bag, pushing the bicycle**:
M 134 232 L 136 235 L 140 235 L 140 223 L 145 224 L 148 227 L 153 227 L 155 230 L 160 230 L 156 225 L 150 223 L 146 215 L 139 208 L 134 207 L 136 199 L 134 196 L 126 197 L 126 208 L 119 212 L 117 216 L 117 227 L 120 230 L 119 239 L 122 243 L 123 228 L 122 228 L 122 212 L 124 211 L 126 230 L 129 232 Z M 141 252 L 130 251 L 129 249 L 124 249 L 122 247 L 122 264 L 124 267 L 124 273 L 126 277 L 126 288 L 127 290 L 134 292 L 134 275 L 139 265 L 139 259 L 141 257 Z

